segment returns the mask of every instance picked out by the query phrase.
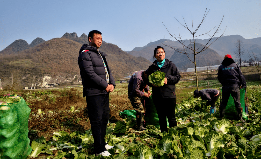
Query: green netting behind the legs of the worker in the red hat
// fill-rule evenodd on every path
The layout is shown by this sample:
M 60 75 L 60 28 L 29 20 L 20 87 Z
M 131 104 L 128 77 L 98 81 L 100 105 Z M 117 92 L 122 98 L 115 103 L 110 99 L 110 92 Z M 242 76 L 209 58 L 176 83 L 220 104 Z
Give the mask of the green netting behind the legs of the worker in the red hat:
M 221 92 L 222 92 L 222 88 L 221 88 Z M 244 120 L 247 120 L 247 115 L 245 110 L 245 88 L 240 89 L 240 103 L 241 103 L 241 107 L 243 108 L 242 118 Z M 228 104 L 226 106 L 225 115 L 226 118 L 233 120 L 235 118 L 235 114 L 236 114 L 235 102 L 232 96 L 230 95 L 228 99 Z

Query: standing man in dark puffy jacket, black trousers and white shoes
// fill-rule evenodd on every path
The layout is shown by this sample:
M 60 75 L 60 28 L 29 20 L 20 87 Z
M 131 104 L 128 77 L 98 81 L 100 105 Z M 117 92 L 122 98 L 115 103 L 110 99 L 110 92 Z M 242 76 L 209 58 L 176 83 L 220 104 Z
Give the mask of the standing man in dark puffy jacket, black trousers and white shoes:
M 78 64 L 83 85 L 83 96 L 86 96 L 88 116 L 91 122 L 94 139 L 94 153 L 109 156 L 104 137 L 109 121 L 109 92 L 115 88 L 115 81 L 106 61 L 102 45 L 102 33 L 93 30 L 88 34 L 89 45 L 82 45 L 79 51 Z

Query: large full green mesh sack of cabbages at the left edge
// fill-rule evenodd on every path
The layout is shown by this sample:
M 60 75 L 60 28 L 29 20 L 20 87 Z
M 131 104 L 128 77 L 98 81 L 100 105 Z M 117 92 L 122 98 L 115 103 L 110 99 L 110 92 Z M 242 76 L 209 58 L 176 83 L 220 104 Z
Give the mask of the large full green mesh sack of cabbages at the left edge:
M 25 159 L 31 153 L 28 138 L 30 112 L 22 97 L 0 97 L 0 159 Z

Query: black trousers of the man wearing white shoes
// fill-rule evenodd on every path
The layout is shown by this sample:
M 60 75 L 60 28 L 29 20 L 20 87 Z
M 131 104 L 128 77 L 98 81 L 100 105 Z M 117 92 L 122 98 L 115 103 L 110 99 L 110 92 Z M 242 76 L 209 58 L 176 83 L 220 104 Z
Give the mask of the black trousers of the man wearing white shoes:
M 86 102 L 94 139 L 94 153 L 99 154 L 106 151 L 104 137 L 110 116 L 109 93 L 86 96 Z

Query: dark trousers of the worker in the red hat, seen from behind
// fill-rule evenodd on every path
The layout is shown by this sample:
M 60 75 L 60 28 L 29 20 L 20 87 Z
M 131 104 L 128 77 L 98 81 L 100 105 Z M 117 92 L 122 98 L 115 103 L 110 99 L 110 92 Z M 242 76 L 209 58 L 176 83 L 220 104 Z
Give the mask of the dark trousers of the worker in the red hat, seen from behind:
M 222 98 L 221 98 L 221 108 L 226 108 L 229 96 L 233 97 L 236 108 L 242 108 L 240 103 L 240 90 L 238 85 L 232 85 L 230 87 L 222 87 Z

